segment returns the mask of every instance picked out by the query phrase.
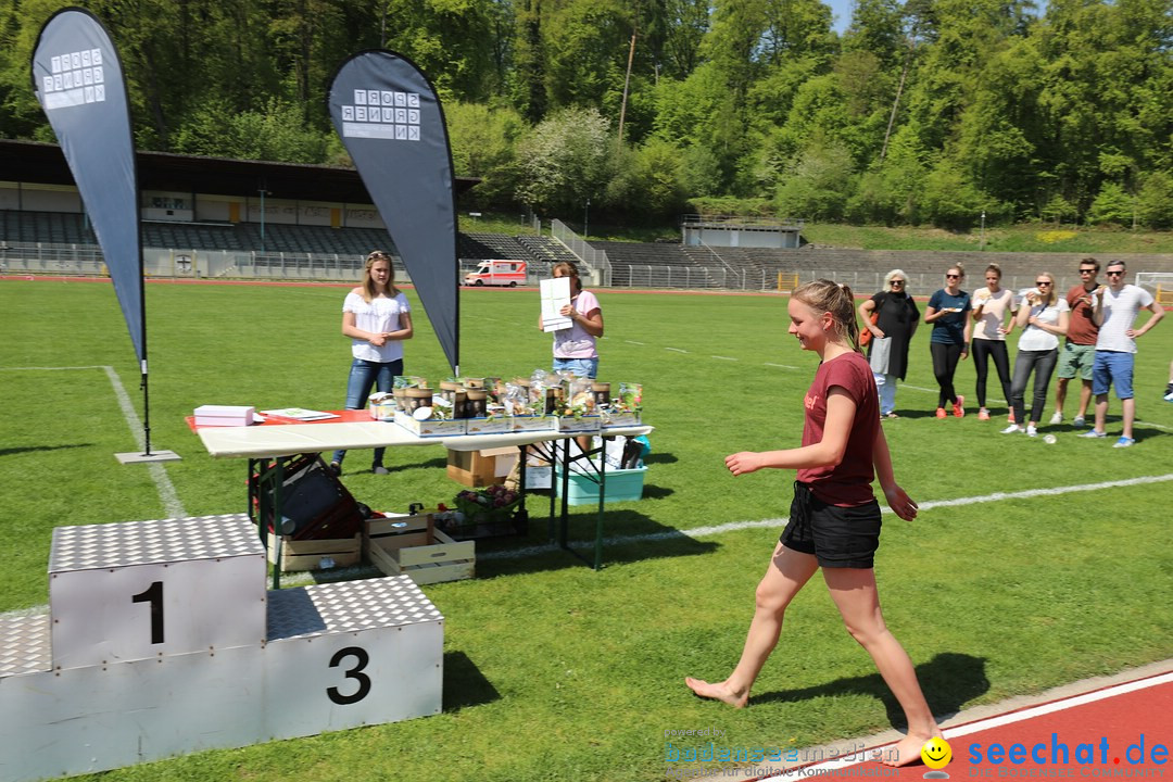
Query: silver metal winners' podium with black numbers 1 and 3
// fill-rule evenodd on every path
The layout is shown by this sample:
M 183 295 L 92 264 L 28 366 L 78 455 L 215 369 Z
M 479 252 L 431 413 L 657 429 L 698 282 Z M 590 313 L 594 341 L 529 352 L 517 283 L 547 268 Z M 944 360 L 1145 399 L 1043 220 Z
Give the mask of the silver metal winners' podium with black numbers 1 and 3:
M 0 617 L 0 780 L 440 712 L 411 578 L 265 592 L 264 556 L 244 514 L 56 530 L 52 613 Z

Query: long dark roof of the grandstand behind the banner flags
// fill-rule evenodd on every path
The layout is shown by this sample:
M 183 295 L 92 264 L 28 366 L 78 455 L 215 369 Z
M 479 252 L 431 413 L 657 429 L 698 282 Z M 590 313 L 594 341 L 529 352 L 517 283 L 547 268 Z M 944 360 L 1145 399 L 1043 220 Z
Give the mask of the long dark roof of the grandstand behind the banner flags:
M 298 200 L 373 203 L 359 172 L 338 165 L 233 161 L 170 152 L 136 154 L 138 188 L 175 192 L 256 196 L 260 189 L 270 198 Z M 74 184 L 73 174 L 57 144 L 0 140 L 0 181 L 40 184 Z M 456 177 L 456 195 L 480 182 Z

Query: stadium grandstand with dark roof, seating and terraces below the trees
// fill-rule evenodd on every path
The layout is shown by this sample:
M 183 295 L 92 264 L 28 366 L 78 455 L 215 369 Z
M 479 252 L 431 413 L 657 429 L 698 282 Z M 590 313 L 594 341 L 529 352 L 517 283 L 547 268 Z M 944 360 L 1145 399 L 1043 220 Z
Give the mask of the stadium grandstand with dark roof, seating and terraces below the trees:
M 144 270 L 189 277 L 354 279 L 372 249 L 394 252 L 378 211 L 353 169 L 138 152 Z M 457 193 L 477 179 L 457 177 Z M 561 225 L 557 220 L 556 225 Z M 564 226 L 563 226 L 564 227 Z M 773 291 L 787 281 L 827 277 L 856 292 L 879 290 L 883 274 L 903 268 L 910 290 L 941 286 L 944 268 L 964 263 L 969 283 L 990 263 L 1010 287 L 1039 271 L 1073 285 L 1074 253 L 865 251 L 829 247 L 712 246 L 700 242 L 590 242 L 572 232 L 508 236 L 461 232 L 463 270 L 479 260 L 526 260 L 530 279 L 552 264 L 605 270 L 595 284 Z M 576 247 L 577 250 L 571 250 Z M 585 259 L 584 259 L 585 258 Z M 1173 257 L 1103 253 L 1128 270 L 1173 273 Z M 73 177 L 55 144 L 0 140 L 0 271 L 102 273 L 101 251 Z M 598 270 L 596 270 L 598 271 Z

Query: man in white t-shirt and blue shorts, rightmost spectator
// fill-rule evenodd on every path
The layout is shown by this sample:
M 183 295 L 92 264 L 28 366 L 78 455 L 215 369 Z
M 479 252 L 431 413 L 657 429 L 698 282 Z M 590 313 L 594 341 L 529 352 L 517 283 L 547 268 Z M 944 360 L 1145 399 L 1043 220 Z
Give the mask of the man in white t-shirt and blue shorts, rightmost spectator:
M 1124 433 L 1116 441 L 1116 448 L 1127 448 L 1135 440 L 1132 436 L 1132 422 L 1137 419 L 1137 400 L 1132 393 L 1133 356 L 1137 353 L 1137 338 L 1160 322 L 1165 310 L 1157 304 L 1152 294 L 1137 285 L 1124 284 L 1125 265 L 1123 260 L 1113 260 L 1104 272 L 1107 287 L 1096 301 L 1096 324 L 1099 335 L 1096 338 L 1096 363 L 1092 374 L 1092 393 L 1096 395 L 1096 428 L 1085 431 L 1080 437 L 1104 437 L 1104 420 L 1107 416 L 1107 389 L 1116 386 L 1116 395 L 1120 400 L 1124 415 Z M 1140 328 L 1133 328 L 1137 314 L 1141 310 L 1151 310 L 1153 315 Z

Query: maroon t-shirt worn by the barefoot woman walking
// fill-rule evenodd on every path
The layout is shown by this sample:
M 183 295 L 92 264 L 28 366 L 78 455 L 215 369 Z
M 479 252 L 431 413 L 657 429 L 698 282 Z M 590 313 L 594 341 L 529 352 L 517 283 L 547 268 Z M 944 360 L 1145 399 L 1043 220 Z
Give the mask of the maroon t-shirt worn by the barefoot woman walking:
M 861 354 L 852 352 L 819 365 L 814 382 L 807 389 L 806 423 L 802 426 L 802 444 L 822 442 L 822 429 L 827 421 L 827 394 L 839 386 L 855 400 L 855 421 L 847 436 L 847 450 L 839 467 L 820 467 L 798 471 L 798 478 L 811 485 L 815 497 L 830 505 L 850 508 L 874 499 L 872 480 L 872 449 L 880 428 L 880 399 L 872 367 Z

